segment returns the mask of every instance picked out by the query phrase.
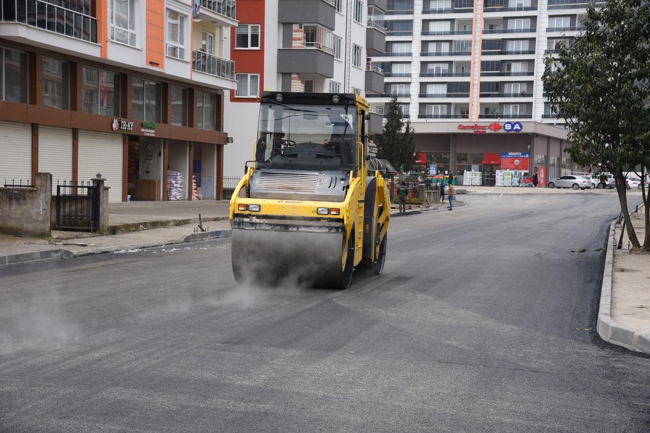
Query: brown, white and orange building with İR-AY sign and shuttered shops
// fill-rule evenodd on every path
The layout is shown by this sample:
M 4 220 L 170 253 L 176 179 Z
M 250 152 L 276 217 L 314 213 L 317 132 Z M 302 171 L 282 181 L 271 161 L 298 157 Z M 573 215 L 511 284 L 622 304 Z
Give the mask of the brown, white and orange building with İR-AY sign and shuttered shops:
M 221 198 L 235 0 L 0 0 L 0 181 Z

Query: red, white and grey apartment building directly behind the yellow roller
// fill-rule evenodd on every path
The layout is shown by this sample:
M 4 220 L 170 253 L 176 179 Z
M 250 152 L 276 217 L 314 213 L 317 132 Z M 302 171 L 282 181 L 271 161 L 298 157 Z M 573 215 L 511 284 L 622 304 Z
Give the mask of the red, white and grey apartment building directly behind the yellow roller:
M 226 104 L 233 144 L 224 174 L 235 183 L 253 156 L 263 90 L 383 92 L 383 72 L 372 64 L 385 51 L 386 0 L 238 0 L 239 25 L 231 30 L 237 88 Z M 382 109 L 370 114 L 370 131 L 382 131 Z M 234 185 L 232 185 L 234 186 Z

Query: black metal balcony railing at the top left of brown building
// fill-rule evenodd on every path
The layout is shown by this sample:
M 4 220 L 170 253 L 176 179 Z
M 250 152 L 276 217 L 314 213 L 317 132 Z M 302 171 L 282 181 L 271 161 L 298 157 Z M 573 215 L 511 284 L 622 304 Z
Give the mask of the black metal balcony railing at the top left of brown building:
M 42 0 L 0 0 L 0 21 L 97 43 L 97 19 Z

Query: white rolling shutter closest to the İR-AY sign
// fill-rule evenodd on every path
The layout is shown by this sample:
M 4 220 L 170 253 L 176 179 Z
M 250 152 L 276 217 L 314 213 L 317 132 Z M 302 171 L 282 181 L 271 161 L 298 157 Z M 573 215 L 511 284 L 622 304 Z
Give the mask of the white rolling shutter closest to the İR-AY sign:
M 101 173 L 110 187 L 109 202 L 122 202 L 122 135 L 79 131 L 79 180 Z

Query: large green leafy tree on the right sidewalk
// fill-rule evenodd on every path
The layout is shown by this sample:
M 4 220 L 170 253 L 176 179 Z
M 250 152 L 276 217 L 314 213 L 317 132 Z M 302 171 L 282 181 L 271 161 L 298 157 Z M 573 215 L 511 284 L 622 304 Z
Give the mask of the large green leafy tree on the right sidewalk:
M 630 243 L 640 243 L 630 224 L 625 173 L 648 166 L 650 144 L 650 4 L 642 0 L 589 3 L 586 30 L 545 57 L 544 90 L 553 112 L 569 125 L 571 160 L 610 172 Z M 649 202 L 643 191 L 645 239 L 650 250 Z

